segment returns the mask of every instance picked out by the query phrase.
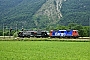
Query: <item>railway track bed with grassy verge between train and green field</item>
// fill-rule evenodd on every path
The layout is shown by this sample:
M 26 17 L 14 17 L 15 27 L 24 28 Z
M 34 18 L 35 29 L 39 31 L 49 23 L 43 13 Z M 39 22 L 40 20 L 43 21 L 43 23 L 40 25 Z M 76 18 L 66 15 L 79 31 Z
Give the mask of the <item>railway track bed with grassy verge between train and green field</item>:
M 90 37 L 79 37 L 79 38 L 14 38 L 13 36 L 0 36 L 0 41 L 18 41 L 18 40 L 25 40 L 25 41 L 90 41 Z

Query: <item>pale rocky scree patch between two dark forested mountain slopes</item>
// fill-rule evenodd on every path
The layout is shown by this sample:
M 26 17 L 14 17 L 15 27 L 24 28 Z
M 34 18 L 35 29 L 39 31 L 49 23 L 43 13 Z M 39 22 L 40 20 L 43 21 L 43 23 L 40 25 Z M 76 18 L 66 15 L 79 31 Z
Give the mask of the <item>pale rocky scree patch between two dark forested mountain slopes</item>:
M 61 7 L 62 0 L 47 0 L 33 16 L 36 26 L 56 25 L 62 17 Z

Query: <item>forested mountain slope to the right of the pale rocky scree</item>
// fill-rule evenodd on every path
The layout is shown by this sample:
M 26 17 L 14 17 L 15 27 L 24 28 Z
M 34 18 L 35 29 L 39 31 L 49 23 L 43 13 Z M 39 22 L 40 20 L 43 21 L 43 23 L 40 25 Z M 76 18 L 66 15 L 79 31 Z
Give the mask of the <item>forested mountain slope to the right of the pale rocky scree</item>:
M 63 18 L 60 23 L 77 23 L 89 26 L 90 23 L 90 0 L 66 0 L 62 3 Z

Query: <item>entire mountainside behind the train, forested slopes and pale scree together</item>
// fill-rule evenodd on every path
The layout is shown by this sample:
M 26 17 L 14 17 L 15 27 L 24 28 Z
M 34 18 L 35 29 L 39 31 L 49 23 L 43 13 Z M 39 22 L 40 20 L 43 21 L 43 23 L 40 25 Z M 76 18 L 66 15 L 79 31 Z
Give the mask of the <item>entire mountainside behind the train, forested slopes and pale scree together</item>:
M 19 29 L 77 23 L 89 26 L 90 0 L 0 0 L 2 25 Z

